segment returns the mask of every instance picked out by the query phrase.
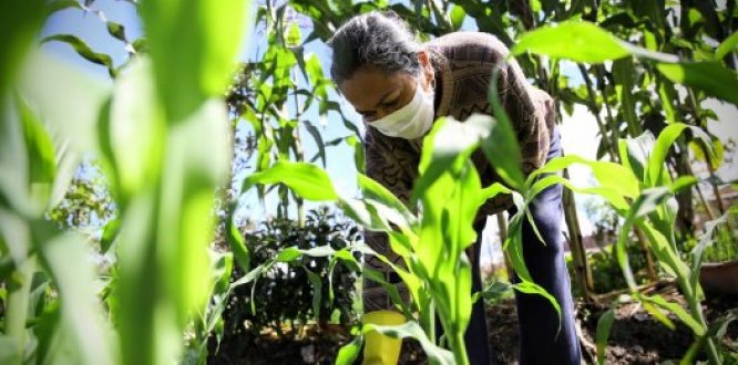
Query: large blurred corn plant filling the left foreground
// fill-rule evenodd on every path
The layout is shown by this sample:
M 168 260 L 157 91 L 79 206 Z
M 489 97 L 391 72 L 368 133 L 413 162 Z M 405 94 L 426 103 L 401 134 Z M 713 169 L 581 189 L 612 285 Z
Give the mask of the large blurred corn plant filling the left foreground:
M 207 246 L 228 166 L 222 94 L 247 3 L 143 1 L 151 53 L 111 72 L 112 85 L 43 54 L 23 56 L 45 15 L 70 3 L 12 2 L 0 11 L 12 44 L 0 77 L 2 362 L 177 361 L 185 330 L 207 338 L 219 319 L 207 312 L 223 286 Z M 93 62 L 104 59 L 62 39 Z M 102 160 L 120 209 L 112 286 L 95 278 L 81 237 L 43 219 L 85 154 Z M 203 347 L 194 347 L 202 362 Z

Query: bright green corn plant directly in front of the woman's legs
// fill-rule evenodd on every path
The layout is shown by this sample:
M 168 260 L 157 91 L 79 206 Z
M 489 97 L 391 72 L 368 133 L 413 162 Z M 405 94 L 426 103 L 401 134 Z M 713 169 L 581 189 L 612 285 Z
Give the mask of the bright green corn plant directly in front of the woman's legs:
M 256 184 L 284 184 L 305 199 L 335 201 L 347 216 L 366 229 L 386 232 L 391 249 L 404 259 L 407 269 L 394 265 L 367 246 L 356 246 L 352 249 L 377 255 L 402 279 L 410 293 L 409 304 L 400 300 L 397 289 L 385 282 L 379 273 L 367 268 L 362 272 L 366 278 L 379 282 L 388 290 L 397 309 L 406 314 L 409 322 L 401 326 L 365 324 L 360 333 L 379 331 L 391 336 L 414 337 L 420 341 L 431 362 L 438 364 L 468 364 L 463 334 L 472 303 L 483 294 L 471 293 L 472 268 L 464 250 L 476 239 L 472 222 L 479 207 L 498 194 L 512 194 L 519 208 L 517 213 L 511 218 L 511 236 L 505 242 L 521 278 L 521 282 L 513 288 L 525 293 L 544 295 L 556 311 L 561 312 L 553 296 L 532 281 L 523 261 L 521 227 L 523 219 L 530 219 L 526 206 L 536 195 L 536 191 L 532 190 L 536 177 L 523 177 L 520 150 L 512 127 L 494 90 L 492 95 L 492 104 L 501 122 L 481 115 L 464 123 L 442 118 L 435 122 L 424 138 L 419 166 L 420 178 L 412 192 L 412 200 L 417 201 L 417 210 L 420 211 L 418 215 L 412 212 L 416 209 L 410 209 L 387 188 L 367 176 L 359 175 L 358 178 L 362 198 L 346 198 L 336 194 L 329 177 L 322 170 L 299 163 L 278 161 L 269 169 L 247 177 L 242 190 L 243 194 Z M 490 158 L 502 155 L 510 157 L 508 161 L 498 164 L 495 169 L 508 185 L 516 187 L 522 194 L 499 182 L 484 188 L 481 186 L 479 175 L 469 158 L 480 147 Z M 255 280 L 268 265 L 290 261 L 303 254 L 332 254 L 341 260 L 355 261 L 350 254 L 338 253 L 329 248 L 317 252 L 290 248 L 266 265 L 255 268 L 234 285 Z M 440 319 L 444 331 L 442 338 L 450 352 L 437 344 L 435 315 Z M 361 341 L 362 336 L 358 335 L 344 347 L 337 363 L 350 363 L 357 355 Z

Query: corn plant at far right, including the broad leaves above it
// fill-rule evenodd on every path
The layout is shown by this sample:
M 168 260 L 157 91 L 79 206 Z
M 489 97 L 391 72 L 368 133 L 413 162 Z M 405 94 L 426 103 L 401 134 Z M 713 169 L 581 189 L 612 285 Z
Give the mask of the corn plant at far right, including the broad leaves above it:
M 578 46 L 563 41 L 570 38 L 575 38 L 583 42 L 582 45 L 584 43 L 587 45 Z M 726 42 L 732 44 L 729 42 L 734 41 L 726 40 Z M 729 88 L 738 86 L 738 76 L 719 63 L 713 61 L 683 61 L 675 55 L 643 49 L 623 42 L 587 22 L 564 22 L 557 27 L 544 27 L 532 31 L 523 35 L 513 49 L 515 54 L 526 51 L 590 63 L 621 60 L 634 55 L 643 62 L 654 63 L 656 69 L 672 82 L 681 83 L 688 90 L 699 90 L 707 95 L 738 104 L 735 93 L 729 91 Z M 715 55 L 715 60 L 719 58 L 720 55 Z M 725 83 L 718 85 L 717 80 L 725 81 Z M 691 268 L 680 259 L 674 231 L 676 202 L 669 199 L 675 192 L 690 187 L 697 180 L 691 176 L 681 176 L 673 181 L 665 167 L 666 155 L 672 144 L 685 129 L 691 132 L 693 137 L 705 148 L 704 150 L 714 154 L 711 153 L 711 138 L 700 127 L 676 123 L 673 119 L 672 124 L 659 134 L 655 144 L 653 143 L 653 136 L 649 140 L 648 135 L 618 142 L 618 159 L 622 160 L 622 165 L 585 161 L 575 156 L 570 156 L 553 160 L 534 174 L 556 171 L 577 161 L 592 167 L 601 186 L 578 190 L 602 196 L 625 219 L 618 233 L 616 257 L 633 295 L 640 300 L 644 307 L 665 324 L 673 326 L 670 320 L 659 309 L 674 313 L 691 328 L 696 340 L 685 355 L 685 361 L 688 362 L 694 358 L 699 350 L 705 346 L 710 362 L 717 364 L 720 363 L 720 357 L 715 341 L 709 335 L 708 324 L 700 306 L 704 299 L 698 282 L 701 253 L 695 255 Z M 708 160 L 710 158 L 708 157 Z M 608 173 L 604 169 L 605 166 L 608 166 L 607 169 L 612 170 Z M 613 175 L 612 173 L 616 170 L 619 170 L 619 173 Z M 617 186 L 612 186 L 612 180 L 616 180 Z M 554 182 L 562 182 L 572 189 L 576 189 L 576 187 L 556 176 L 543 178 L 537 184 L 540 188 L 544 188 Z M 612 189 L 607 188 L 608 185 Z M 625 253 L 628 233 L 633 227 L 637 227 L 645 233 L 648 247 L 658 259 L 659 265 L 668 275 L 676 279 L 681 293 L 687 300 L 687 310 L 678 304 L 669 303 L 658 295 L 648 296 L 637 292 L 636 282 Z M 607 326 L 608 322 L 609 319 L 603 322 L 603 328 Z M 606 331 L 603 330 L 602 333 L 604 336 Z

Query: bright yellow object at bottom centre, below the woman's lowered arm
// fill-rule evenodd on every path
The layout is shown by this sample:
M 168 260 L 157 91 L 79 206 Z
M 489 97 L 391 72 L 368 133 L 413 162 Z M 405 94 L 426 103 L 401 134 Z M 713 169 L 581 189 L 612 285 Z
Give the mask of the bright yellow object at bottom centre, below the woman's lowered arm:
M 375 311 L 363 315 L 365 323 L 398 325 L 406 322 L 404 315 L 393 311 Z M 400 358 L 402 338 L 392 338 L 377 331 L 368 332 L 363 346 L 365 365 L 397 364 Z

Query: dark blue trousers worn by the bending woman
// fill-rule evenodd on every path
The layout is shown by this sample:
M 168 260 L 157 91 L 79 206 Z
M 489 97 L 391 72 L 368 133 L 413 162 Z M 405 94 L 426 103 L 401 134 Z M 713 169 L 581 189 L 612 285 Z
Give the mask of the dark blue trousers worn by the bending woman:
M 561 154 L 558 131 L 554 132 L 547 158 Z M 543 296 L 515 292 L 517 321 L 520 325 L 520 364 L 580 364 L 582 353 L 574 325 L 574 311 L 568 272 L 564 262 L 564 236 L 562 233 L 562 187 L 552 186 L 535 198 L 529 209 L 545 241 L 539 240 L 527 219 L 524 219 L 523 257 L 533 281 L 551 293 L 561 306 L 561 331 L 558 316 L 553 305 Z M 514 208 L 510 213 L 514 213 Z M 482 225 L 483 226 L 483 225 Z M 479 254 L 482 228 L 475 227 L 478 241 L 474 244 L 476 259 L 472 270 L 472 290 L 482 290 L 479 272 Z M 514 278 L 517 281 L 517 278 Z M 484 302 L 479 300 L 465 333 L 467 352 L 471 364 L 490 364 Z

